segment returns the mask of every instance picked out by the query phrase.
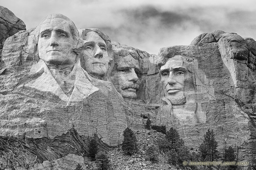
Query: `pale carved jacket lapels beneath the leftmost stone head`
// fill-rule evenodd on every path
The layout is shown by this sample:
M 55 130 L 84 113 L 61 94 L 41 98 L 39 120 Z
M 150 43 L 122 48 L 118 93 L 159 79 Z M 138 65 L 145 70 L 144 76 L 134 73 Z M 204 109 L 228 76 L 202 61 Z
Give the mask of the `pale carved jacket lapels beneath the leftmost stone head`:
M 67 102 L 67 106 L 75 105 L 83 99 L 87 98 L 92 93 L 99 89 L 90 82 L 91 78 L 88 73 L 80 66 L 80 60 L 75 63 L 73 70 L 69 73 L 67 78 L 73 79 L 74 89 L 70 97 L 68 97 L 53 75 L 51 74 L 46 63 L 40 59 L 36 64 L 32 65 L 30 69 L 30 77 L 36 79 L 26 84 L 25 86 L 36 88 L 43 92 L 52 92 L 61 100 Z

